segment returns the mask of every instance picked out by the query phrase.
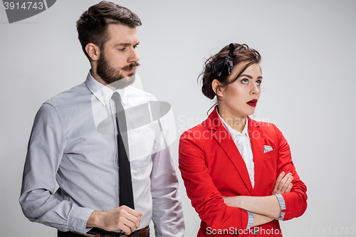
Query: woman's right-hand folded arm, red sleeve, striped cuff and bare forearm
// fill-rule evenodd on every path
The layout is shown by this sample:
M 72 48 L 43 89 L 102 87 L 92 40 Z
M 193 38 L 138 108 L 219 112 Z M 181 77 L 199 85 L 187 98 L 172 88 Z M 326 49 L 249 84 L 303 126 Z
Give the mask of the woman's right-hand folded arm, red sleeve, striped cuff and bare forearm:
M 224 199 L 229 206 L 286 221 L 301 216 L 307 208 L 306 186 L 295 171 L 288 142 L 276 126 L 273 128 L 278 137 L 277 173 L 280 175 L 271 196 L 231 196 Z M 279 200 L 273 194 L 280 194 Z

